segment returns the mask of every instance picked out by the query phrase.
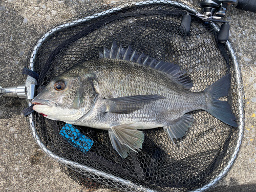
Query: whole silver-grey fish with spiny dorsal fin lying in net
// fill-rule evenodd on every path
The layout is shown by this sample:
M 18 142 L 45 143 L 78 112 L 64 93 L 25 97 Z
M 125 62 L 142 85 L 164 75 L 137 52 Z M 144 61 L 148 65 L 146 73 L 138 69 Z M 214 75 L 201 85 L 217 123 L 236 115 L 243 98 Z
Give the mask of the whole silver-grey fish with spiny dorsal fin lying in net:
M 98 59 L 76 63 L 54 77 L 32 100 L 33 110 L 52 120 L 108 130 L 122 158 L 142 149 L 141 130 L 163 127 L 175 144 L 195 120 L 191 111 L 204 110 L 238 126 L 228 102 L 219 100 L 228 95 L 230 73 L 200 92 L 190 91 L 193 82 L 186 73 L 114 40 Z

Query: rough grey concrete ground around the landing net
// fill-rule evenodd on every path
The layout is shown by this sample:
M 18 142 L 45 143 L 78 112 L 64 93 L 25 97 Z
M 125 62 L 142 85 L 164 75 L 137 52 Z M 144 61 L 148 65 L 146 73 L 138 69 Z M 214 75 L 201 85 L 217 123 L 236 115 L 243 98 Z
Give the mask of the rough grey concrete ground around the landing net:
M 42 33 L 74 15 L 109 3 L 110 0 L 0 1 L 0 86 L 25 82 L 22 69 L 26 56 Z M 196 6 L 197 2 L 184 3 Z M 230 9 L 226 20 L 230 22 L 230 40 L 242 69 L 245 132 L 237 161 L 211 191 L 256 191 L 256 14 Z M 59 164 L 39 149 L 21 114 L 26 107 L 23 99 L 0 98 L 0 190 L 90 191 L 60 172 Z

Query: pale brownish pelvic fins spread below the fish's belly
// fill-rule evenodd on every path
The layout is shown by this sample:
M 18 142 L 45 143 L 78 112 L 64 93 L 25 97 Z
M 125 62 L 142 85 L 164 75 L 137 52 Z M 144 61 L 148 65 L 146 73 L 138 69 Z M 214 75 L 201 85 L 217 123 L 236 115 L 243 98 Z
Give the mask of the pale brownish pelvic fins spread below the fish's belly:
M 130 149 L 140 150 L 144 141 L 144 133 L 135 130 L 134 126 L 128 124 L 113 126 L 109 130 L 109 135 L 113 148 L 122 158 L 127 157 Z

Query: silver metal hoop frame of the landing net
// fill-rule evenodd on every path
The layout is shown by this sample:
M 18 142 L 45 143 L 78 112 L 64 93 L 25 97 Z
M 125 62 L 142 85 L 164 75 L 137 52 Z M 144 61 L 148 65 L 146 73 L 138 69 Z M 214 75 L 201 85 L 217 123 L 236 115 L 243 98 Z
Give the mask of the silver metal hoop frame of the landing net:
M 108 14 L 111 14 L 111 13 L 114 13 L 114 12 L 119 12 L 124 8 L 137 7 L 137 6 L 143 6 L 143 5 L 156 5 L 156 4 L 172 5 L 172 6 L 176 6 L 176 7 L 179 7 L 179 8 L 183 8 L 183 9 L 187 10 L 188 12 L 191 12 L 191 13 L 194 13 L 194 14 L 199 13 L 194 8 L 191 8 L 188 5 L 185 5 L 185 4 L 182 4 L 182 3 L 179 3 L 179 2 L 175 2 L 175 1 L 153 0 L 153 1 L 136 2 L 135 4 L 133 4 L 133 3 L 135 3 L 135 2 L 125 3 L 124 5 L 120 5 L 120 6 L 117 6 L 115 8 L 112 8 L 112 9 L 109 9 L 109 10 L 106 10 L 106 11 L 102 11 L 100 13 L 95 13 L 91 16 L 76 19 L 76 20 L 73 20 L 70 23 L 62 24 L 62 25 L 56 26 L 55 28 L 49 30 L 44 35 L 42 35 L 41 38 L 38 39 L 34 49 L 32 50 L 32 53 L 31 53 L 31 56 L 30 56 L 30 70 L 32 70 L 32 71 L 35 70 L 34 60 L 36 58 L 36 54 L 37 54 L 39 48 L 42 46 L 42 43 L 44 41 L 46 41 L 54 33 L 58 32 L 60 30 L 66 29 L 67 27 L 75 26 L 75 25 L 81 24 L 83 22 L 88 22 L 91 19 L 99 18 L 99 17 L 105 16 L 105 15 L 108 15 Z M 214 29 L 217 32 L 220 30 L 219 26 L 216 25 L 215 23 L 210 23 L 210 25 L 212 25 L 212 27 L 214 27 Z M 225 42 L 225 45 L 228 49 L 229 54 L 231 55 L 231 58 L 232 58 L 232 61 L 233 61 L 233 64 L 234 64 L 234 73 L 235 73 L 234 77 L 236 78 L 237 83 L 238 83 L 238 88 L 237 88 L 237 93 L 238 93 L 238 96 L 239 96 L 239 98 L 238 98 L 238 103 L 239 103 L 238 110 L 243 111 L 244 110 L 244 104 L 243 104 L 244 92 L 243 92 L 241 69 L 240 69 L 239 62 L 238 62 L 237 57 L 236 57 L 236 53 L 234 52 L 229 40 L 227 40 Z M 29 83 L 28 81 L 29 80 L 27 79 L 26 83 Z M 28 99 L 28 104 L 29 104 L 29 106 L 31 105 L 31 100 L 29 100 L 29 99 Z M 236 158 L 238 156 L 238 153 L 239 153 L 239 150 L 240 150 L 240 146 L 242 144 L 242 138 L 243 138 L 243 132 L 244 132 L 244 114 L 243 113 L 242 114 L 239 113 L 238 121 L 239 121 L 239 127 L 238 127 L 238 129 L 239 129 L 239 133 L 238 133 L 239 138 L 237 140 L 237 145 L 234 148 L 234 152 L 231 156 L 231 159 L 228 161 L 227 165 L 222 169 L 221 173 L 218 176 L 216 176 L 214 179 L 210 180 L 207 184 L 205 184 L 201 188 L 198 188 L 198 189 L 190 191 L 190 192 L 204 191 L 204 190 L 208 189 L 209 187 L 211 187 L 212 185 L 215 185 L 218 181 L 220 181 L 227 174 L 227 172 L 231 168 L 234 160 L 236 160 Z M 95 169 L 95 168 L 92 168 L 92 167 L 89 167 L 89 166 L 86 166 L 86 165 L 79 164 L 77 162 L 62 158 L 62 157 L 54 154 L 52 151 L 50 151 L 46 147 L 45 143 L 43 143 L 40 140 L 39 136 L 37 135 L 33 114 L 29 115 L 29 127 L 30 127 L 33 138 L 35 139 L 36 143 L 39 145 L 41 150 L 44 151 L 48 156 L 50 156 L 55 161 L 65 165 L 65 166 L 69 165 L 69 166 L 72 166 L 72 167 L 79 168 L 79 169 L 81 169 L 85 172 L 89 172 L 89 173 L 95 174 L 97 176 L 104 177 L 106 179 L 111 179 L 114 182 L 118 182 L 120 184 L 124 184 L 128 187 L 131 187 L 136 191 L 157 192 L 156 190 L 145 188 L 142 185 L 136 185 L 136 184 L 132 183 L 131 181 L 116 177 L 112 174 L 102 172 L 98 169 Z

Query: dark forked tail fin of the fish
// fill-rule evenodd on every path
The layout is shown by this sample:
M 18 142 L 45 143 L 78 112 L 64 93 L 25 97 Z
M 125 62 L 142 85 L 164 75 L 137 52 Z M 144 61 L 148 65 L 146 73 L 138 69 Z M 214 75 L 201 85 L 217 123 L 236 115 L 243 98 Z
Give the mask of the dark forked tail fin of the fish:
M 237 118 L 232 114 L 227 101 L 220 101 L 218 98 L 226 96 L 230 87 L 231 75 L 226 74 L 204 91 L 212 97 L 212 103 L 206 110 L 209 114 L 231 126 L 238 126 Z

